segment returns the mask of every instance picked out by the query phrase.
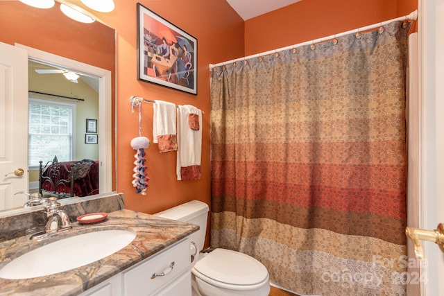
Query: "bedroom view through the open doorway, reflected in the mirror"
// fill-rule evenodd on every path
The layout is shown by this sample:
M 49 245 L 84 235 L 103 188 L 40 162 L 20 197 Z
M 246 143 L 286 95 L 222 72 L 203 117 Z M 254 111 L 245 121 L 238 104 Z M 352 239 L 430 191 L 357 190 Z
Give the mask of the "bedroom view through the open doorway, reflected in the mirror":
M 28 89 L 30 193 L 98 194 L 98 78 L 30 60 Z

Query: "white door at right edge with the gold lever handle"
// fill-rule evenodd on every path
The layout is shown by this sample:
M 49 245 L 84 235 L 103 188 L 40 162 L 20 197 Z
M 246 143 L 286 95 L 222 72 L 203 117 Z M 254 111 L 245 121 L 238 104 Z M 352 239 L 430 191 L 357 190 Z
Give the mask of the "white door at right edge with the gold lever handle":
M 422 229 L 436 229 L 444 223 L 444 0 L 419 0 L 418 12 L 418 222 Z M 444 295 L 444 254 L 434 243 L 422 247 L 421 295 Z

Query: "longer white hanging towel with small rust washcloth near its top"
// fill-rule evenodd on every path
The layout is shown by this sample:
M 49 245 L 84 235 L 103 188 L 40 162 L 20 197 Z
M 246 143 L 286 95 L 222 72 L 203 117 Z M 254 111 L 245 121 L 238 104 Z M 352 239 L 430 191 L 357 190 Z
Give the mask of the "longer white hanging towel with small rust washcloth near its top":
M 189 127 L 189 114 L 198 114 L 199 130 Z M 202 178 L 202 111 L 191 105 L 178 106 L 178 155 L 176 173 L 178 180 L 191 181 Z

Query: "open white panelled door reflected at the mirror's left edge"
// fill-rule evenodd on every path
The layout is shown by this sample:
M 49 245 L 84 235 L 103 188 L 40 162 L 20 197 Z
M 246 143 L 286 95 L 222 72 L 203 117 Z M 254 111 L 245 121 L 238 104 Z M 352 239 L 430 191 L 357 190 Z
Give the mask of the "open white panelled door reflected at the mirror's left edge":
M 0 42 L 0 210 L 22 207 L 19 191 L 28 192 L 28 52 Z

